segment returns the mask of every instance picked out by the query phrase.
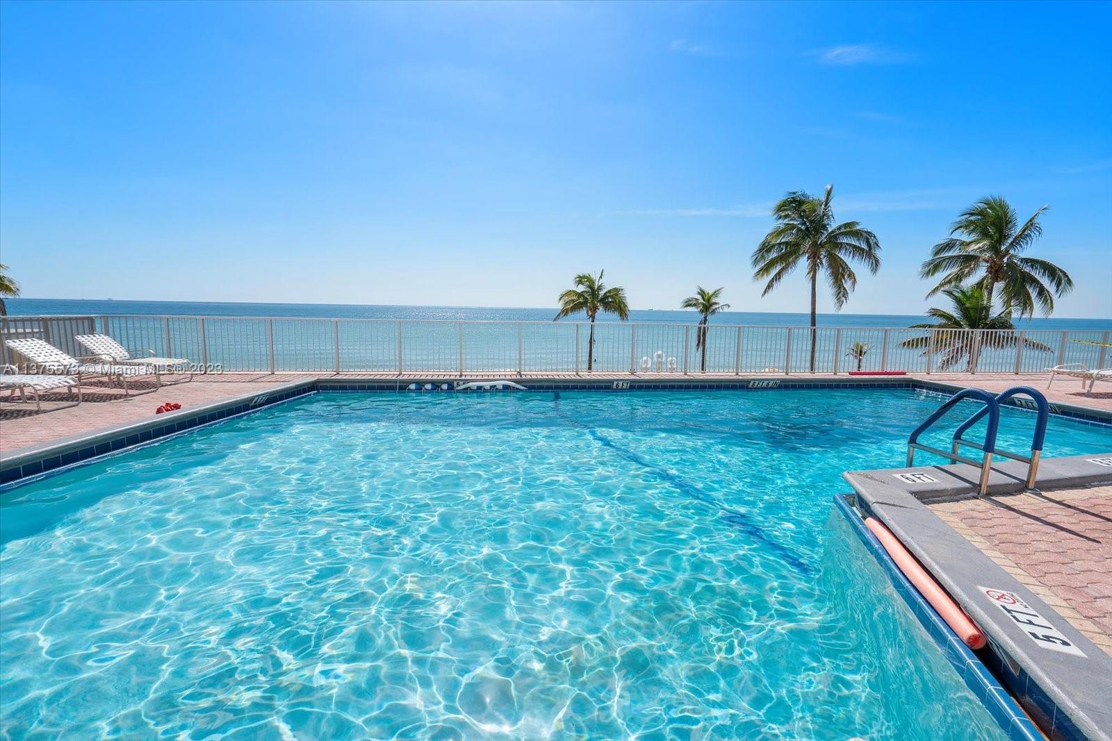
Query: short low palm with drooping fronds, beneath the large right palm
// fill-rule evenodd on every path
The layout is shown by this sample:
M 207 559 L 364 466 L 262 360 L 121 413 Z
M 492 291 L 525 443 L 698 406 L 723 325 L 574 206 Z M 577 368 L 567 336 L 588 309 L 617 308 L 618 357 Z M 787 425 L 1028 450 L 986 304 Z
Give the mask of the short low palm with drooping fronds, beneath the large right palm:
M 926 316 L 933 317 L 937 322 L 912 324 L 914 329 L 934 330 L 934 352 L 941 353 L 939 370 L 950 370 L 965 361 L 965 372 L 972 373 L 976 370 L 977 359 L 984 348 L 1006 350 L 1019 343 L 1019 333 L 1012 324 L 1012 312 L 1004 309 L 1000 313 L 993 313 L 989 294 L 980 284 L 946 288 L 942 293 L 953 304 L 952 311 L 929 309 Z M 964 331 L 973 329 L 997 331 Z M 931 351 L 931 334 L 904 340 L 901 344 L 905 348 L 922 348 L 923 354 L 926 354 Z M 1026 338 L 1023 339 L 1023 348 L 1052 351 L 1050 346 Z

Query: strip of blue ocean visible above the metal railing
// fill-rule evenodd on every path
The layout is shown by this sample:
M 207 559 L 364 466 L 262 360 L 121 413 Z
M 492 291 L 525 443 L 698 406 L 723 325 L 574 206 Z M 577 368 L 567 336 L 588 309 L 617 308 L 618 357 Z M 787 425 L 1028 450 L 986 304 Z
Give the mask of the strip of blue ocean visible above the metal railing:
M 215 303 L 202 301 L 117 301 L 95 299 L 8 299 L 11 316 L 111 316 L 168 314 L 172 317 L 261 317 L 316 319 L 416 319 L 483 321 L 549 321 L 556 309 L 499 307 L 401 307 L 350 303 Z M 582 318 L 580 318 L 582 319 Z M 599 321 L 617 321 L 613 314 Z M 569 321 L 574 321 L 574 318 Z M 691 324 L 698 321 L 694 311 L 634 309 L 629 321 Z M 715 324 L 754 327 L 806 327 L 806 313 L 726 311 L 711 318 Z M 925 321 L 906 314 L 818 314 L 820 327 L 909 327 Z M 1019 329 L 1112 331 L 1110 319 L 1034 318 L 1017 320 Z

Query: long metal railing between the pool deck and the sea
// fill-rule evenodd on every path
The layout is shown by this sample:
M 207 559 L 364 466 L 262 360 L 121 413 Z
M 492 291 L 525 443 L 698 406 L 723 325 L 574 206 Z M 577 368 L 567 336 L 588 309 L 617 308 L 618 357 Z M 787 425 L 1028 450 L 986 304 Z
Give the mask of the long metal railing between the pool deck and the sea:
M 132 352 L 225 371 L 583 373 L 587 322 L 266 317 L 0 317 L 0 340 L 38 337 L 72 356 L 76 334 L 109 334 Z M 595 324 L 590 369 L 653 373 L 1031 373 L 1080 362 L 1104 368 L 1110 332 L 712 324 Z M 851 357 L 854 343 L 867 350 Z M 704 347 L 705 346 L 705 347 Z M 0 342 L 0 362 L 18 363 Z

